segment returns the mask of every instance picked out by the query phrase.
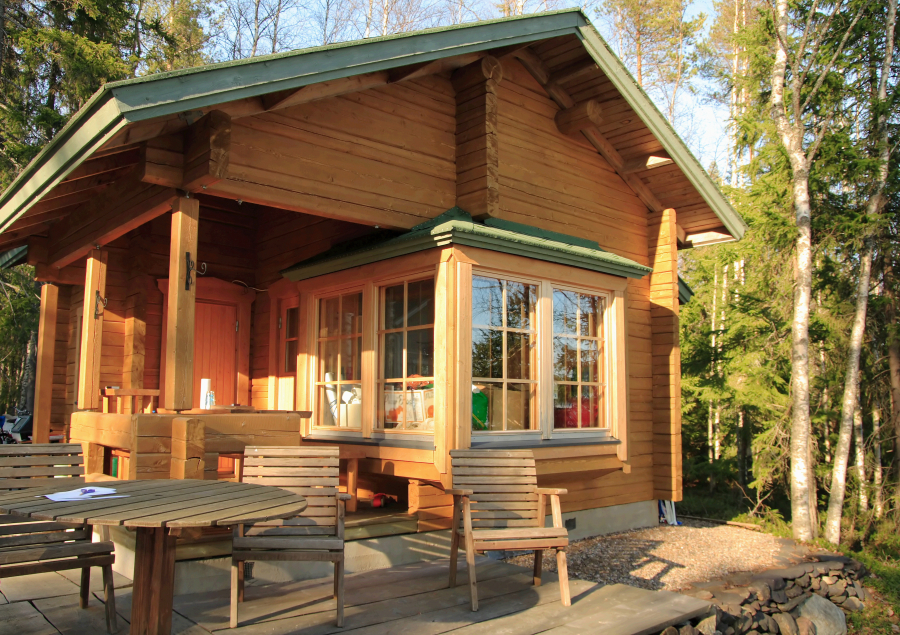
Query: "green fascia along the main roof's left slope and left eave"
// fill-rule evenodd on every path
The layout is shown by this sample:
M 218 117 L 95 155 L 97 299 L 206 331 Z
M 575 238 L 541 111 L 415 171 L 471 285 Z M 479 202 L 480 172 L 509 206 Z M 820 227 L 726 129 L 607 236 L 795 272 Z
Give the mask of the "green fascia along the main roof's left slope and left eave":
M 0 195 L 0 233 L 129 124 L 364 73 L 576 35 L 585 24 L 587 19 L 580 11 L 567 10 L 109 83 Z M 302 58 L 302 75 L 297 74 L 298 57 Z

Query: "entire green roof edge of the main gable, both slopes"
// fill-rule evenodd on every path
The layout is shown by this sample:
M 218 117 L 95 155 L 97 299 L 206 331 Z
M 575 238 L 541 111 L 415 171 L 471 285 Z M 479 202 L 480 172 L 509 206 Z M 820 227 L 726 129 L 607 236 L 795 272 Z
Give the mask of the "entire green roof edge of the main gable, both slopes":
M 111 82 L 0 195 L 0 232 L 128 124 L 465 53 L 575 35 L 735 238 L 745 225 L 579 9 L 461 24 Z

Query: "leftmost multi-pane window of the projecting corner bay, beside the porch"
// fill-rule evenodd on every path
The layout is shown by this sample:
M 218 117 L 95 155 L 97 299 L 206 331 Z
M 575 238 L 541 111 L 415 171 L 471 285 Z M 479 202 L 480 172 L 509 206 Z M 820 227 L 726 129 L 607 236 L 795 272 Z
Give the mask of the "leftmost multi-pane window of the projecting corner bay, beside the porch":
M 318 301 L 317 423 L 362 426 L 362 293 Z

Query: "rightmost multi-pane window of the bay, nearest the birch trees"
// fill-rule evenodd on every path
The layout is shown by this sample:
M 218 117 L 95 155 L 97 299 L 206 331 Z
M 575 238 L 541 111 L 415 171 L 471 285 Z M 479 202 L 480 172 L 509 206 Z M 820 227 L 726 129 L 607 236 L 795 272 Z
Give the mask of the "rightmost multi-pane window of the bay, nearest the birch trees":
M 605 298 L 553 290 L 553 427 L 604 428 Z

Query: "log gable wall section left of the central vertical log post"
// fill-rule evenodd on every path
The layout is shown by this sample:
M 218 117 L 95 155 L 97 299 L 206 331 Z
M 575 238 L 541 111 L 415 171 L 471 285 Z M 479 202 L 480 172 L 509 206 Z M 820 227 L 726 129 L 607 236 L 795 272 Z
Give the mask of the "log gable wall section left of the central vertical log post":
M 456 199 L 455 104 L 442 76 L 237 119 L 212 193 L 412 227 Z

